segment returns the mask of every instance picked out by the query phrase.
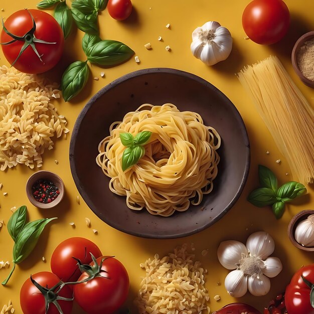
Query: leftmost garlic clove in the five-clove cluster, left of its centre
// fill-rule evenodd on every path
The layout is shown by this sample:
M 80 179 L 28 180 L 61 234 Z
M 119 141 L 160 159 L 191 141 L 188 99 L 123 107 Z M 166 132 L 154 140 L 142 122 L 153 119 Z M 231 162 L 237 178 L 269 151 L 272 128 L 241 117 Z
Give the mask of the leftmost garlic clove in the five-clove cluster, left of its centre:
M 227 269 L 236 269 L 242 254 L 248 255 L 247 248 L 243 243 L 234 240 L 221 242 L 217 250 L 220 264 Z

